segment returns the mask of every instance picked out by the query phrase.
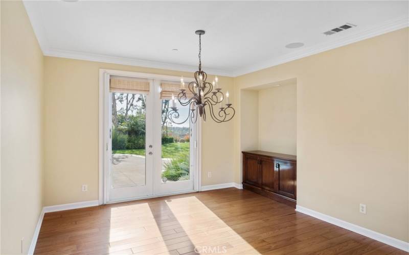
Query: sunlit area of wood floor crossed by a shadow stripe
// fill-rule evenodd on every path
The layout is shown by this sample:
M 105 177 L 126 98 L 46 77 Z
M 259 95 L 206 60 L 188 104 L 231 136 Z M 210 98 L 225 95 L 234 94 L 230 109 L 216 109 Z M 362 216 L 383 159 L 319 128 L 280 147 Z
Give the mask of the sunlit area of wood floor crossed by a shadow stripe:
M 109 222 L 107 253 L 260 254 L 195 196 L 112 207 Z

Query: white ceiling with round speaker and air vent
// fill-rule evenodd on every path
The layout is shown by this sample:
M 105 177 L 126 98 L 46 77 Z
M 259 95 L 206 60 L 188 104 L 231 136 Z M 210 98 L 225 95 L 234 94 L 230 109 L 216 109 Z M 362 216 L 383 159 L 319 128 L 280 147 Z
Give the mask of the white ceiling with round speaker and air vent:
M 44 55 L 193 71 L 203 29 L 203 69 L 230 76 L 408 25 L 407 1 L 24 3 Z M 357 27 L 323 35 L 346 22 Z

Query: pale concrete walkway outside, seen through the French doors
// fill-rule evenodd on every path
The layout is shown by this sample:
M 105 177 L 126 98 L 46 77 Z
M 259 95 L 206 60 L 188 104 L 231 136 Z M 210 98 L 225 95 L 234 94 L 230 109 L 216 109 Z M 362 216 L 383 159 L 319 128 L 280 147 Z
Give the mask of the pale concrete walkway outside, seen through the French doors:
M 162 159 L 164 163 L 171 159 Z M 122 188 L 145 185 L 145 157 L 132 154 L 112 154 L 111 188 Z

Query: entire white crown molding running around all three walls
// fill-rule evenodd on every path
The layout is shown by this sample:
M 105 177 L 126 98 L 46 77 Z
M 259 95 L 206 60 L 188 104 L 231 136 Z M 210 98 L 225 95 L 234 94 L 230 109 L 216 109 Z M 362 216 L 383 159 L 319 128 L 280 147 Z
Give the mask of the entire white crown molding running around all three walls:
M 187 71 L 187 72 L 194 72 L 197 70 L 197 66 L 191 66 L 191 65 L 157 62 L 157 61 L 142 60 L 142 59 L 137 59 L 137 58 L 117 57 L 117 56 L 109 56 L 109 55 L 102 55 L 102 54 L 78 52 L 75 50 L 52 48 L 48 44 L 47 36 L 44 34 L 45 30 L 42 26 L 41 16 L 37 14 L 37 12 L 35 11 L 29 11 L 34 8 L 35 3 L 33 3 L 32 1 L 27 1 L 27 0 L 24 0 L 23 3 L 26 7 L 27 13 L 29 14 L 29 18 L 32 23 L 35 35 L 37 37 L 37 40 L 39 42 L 39 45 L 41 47 L 41 50 L 44 56 L 79 59 L 79 60 L 140 66 L 140 67 L 160 68 L 160 69 L 167 69 L 167 70 Z M 239 75 L 243 75 L 246 73 L 258 71 L 258 70 L 265 69 L 268 67 L 280 65 L 280 64 L 283 64 L 289 61 L 293 61 L 293 60 L 301 59 L 301 58 L 308 57 L 314 54 L 318 54 L 321 52 L 325 52 L 326 50 L 348 45 L 348 44 L 351 44 L 357 41 L 361 41 L 361 40 L 365 40 L 371 37 L 389 33 L 389 32 L 392 32 L 398 29 L 406 28 L 408 26 L 409 26 L 409 17 L 407 16 L 397 17 L 393 20 L 389 20 L 386 22 L 382 22 L 381 24 L 374 25 L 363 31 L 357 31 L 355 33 L 352 33 L 351 31 L 352 34 L 349 34 L 348 36 L 334 37 L 325 43 L 316 44 L 311 47 L 303 47 L 300 49 L 296 49 L 289 54 L 282 55 L 277 58 L 272 58 L 267 61 L 258 62 L 258 63 L 252 64 L 249 66 L 245 66 L 243 68 L 238 68 L 236 70 L 223 70 L 223 69 L 217 69 L 217 68 L 206 68 L 206 70 L 209 74 L 223 75 L 227 77 L 237 77 Z

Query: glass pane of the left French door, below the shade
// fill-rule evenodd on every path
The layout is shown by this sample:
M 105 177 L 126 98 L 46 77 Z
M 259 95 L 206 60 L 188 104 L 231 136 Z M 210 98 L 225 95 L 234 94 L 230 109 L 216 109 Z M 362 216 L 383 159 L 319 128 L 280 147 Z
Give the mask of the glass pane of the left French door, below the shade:
M 146 184 L 146 95 L 111 93 L 111 188 Z

